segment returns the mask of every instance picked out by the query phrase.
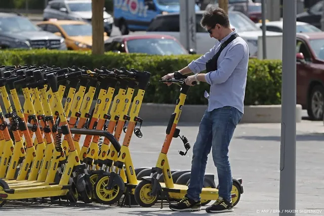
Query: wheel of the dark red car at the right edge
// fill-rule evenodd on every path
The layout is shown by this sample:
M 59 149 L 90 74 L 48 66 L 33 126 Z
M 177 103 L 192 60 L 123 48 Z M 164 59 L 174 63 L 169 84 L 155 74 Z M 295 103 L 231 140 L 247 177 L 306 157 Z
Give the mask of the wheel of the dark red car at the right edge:
M 310 97 L 307 113 L 311 120 L 322 121 L 324 109 L 324 88 L 321 85 L 313 87 Z

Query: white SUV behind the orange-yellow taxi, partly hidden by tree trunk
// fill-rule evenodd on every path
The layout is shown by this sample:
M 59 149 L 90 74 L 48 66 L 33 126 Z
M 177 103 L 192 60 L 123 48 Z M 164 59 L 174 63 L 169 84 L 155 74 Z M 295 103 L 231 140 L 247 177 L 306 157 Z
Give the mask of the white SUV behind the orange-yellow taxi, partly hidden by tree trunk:
M 43 12 L 43 20 L 79 20 L 88 21 L 92 19 L 91 0 L 52 0 Z M 104 31 L 110 36 L 112 31 L 113 17 L 105 9 L 103 13 Z

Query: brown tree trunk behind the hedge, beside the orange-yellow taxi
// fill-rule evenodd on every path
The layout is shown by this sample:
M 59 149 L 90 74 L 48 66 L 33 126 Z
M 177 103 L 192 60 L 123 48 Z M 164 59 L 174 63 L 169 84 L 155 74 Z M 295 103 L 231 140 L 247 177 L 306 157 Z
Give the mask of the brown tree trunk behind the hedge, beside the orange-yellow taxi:
M 92 54 L 104 54 L 103 8 L 105 0 L 92 0 Z

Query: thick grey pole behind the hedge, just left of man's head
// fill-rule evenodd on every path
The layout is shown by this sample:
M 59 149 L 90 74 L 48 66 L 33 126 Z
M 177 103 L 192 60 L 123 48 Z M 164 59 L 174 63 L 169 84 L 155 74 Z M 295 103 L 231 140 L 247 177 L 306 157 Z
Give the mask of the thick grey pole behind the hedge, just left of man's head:
M 187 49 L 197 50 L 195 0 L 180 0 L 180 43 Z

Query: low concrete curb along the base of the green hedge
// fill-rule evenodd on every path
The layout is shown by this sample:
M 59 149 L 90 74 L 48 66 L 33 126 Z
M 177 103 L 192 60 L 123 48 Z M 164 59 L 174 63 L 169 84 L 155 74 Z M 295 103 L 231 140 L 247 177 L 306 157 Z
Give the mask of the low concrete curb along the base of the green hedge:
M 20 103 L 23 105 L 24 97 L 19 95 Z M 63 98 L 65 103 L 66 98 Z M 92 101 L 91 110 L 96 100 Z M 4 103 L 0 105 L 5 112 Z M 130 106 L 131 107 L 131 106 Z M 175 104 L 142 103 L 139 117 L 144 122 L 168 122 L 174 112 Z M 199 123 L 203 118 L 207 105 L 184 105 L 180 116 L 180 122 Z M 296 122 L 302 121 L 302 106 L 296 105 Z M 240 123 L 281 123 L 281 105 L 248 105 L 245 106 L 244 115 Z

